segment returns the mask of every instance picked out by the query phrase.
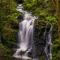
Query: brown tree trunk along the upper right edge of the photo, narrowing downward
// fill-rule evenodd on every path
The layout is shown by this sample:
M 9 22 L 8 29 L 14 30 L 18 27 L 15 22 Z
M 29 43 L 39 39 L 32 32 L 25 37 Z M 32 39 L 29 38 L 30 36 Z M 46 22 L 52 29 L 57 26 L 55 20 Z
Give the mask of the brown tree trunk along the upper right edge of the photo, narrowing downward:
M 57 16 L 57 25 L 58 25 L 58 34 L 60 39 L 60 0 L 52 0 L 53 5 L 56 9 L 56 16 Z

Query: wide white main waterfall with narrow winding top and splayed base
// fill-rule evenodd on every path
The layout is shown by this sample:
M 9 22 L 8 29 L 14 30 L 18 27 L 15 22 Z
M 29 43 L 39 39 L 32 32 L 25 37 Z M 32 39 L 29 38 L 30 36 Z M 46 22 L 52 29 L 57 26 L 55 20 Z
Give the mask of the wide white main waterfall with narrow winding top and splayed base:
M 22 58 L 24 60 L 27 60 L 31 59 L 30 57 L 28 57 L 28 52 L 31 51 L 33 45 L 33 26 L 36 17 L 33 17 L 30 13 L 23 10 L 22 4 L 17 7 L 17 11 L 23 13 L 24 20 L 19 23 L 18 36 L 20 43 L 19 48 L 13 56 L 16 58 Z

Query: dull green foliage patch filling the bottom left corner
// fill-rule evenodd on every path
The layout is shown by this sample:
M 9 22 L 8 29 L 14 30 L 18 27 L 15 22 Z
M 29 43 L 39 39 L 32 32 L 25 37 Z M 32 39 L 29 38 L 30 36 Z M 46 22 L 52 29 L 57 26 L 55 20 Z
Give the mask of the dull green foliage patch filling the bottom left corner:
M 11 60 L 11 50 L 2 44 L 0 44 L 0 59 L 1 60 Z

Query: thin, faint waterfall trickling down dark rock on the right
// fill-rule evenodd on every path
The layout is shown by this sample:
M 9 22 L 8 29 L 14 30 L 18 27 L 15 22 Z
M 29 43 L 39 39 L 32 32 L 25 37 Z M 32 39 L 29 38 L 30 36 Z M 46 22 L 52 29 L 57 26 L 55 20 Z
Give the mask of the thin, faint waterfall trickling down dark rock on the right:
M 45 31 L 46 32 L 46 46 L 44 49 L 45 52 L 45 60 L 52 60 L 52 29 L 53 26 L 51 25 L 51 27 L 49 28 L 49 31 Z

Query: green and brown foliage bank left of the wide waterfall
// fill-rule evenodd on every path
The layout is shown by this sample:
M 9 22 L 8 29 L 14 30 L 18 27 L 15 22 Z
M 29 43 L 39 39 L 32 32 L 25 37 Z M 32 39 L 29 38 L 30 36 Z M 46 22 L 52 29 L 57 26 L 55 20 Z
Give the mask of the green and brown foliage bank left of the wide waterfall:
M 17 4 L 14 0 L 0 0 L 0 36 L 2 44 L 1 60 L 12 60 L 12 47 L 16 43 L 16 35 L 18 31 L 19 12 L 16 11 Z M 1 56 L 0 56 L 1 58 Z

